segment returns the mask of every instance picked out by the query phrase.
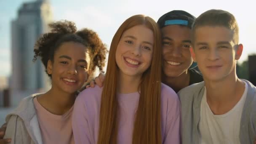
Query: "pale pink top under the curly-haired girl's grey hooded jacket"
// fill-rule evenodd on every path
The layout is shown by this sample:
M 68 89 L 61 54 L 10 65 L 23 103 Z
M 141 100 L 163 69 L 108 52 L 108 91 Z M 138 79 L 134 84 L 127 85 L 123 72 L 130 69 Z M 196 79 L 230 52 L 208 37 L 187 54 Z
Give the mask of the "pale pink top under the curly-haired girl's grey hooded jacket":
M 53 115 L 39 104 L 37 98 L 33 102 L 43 144 L 75 144 L 71 123 L 73 107 L 64 115 Z

